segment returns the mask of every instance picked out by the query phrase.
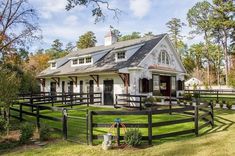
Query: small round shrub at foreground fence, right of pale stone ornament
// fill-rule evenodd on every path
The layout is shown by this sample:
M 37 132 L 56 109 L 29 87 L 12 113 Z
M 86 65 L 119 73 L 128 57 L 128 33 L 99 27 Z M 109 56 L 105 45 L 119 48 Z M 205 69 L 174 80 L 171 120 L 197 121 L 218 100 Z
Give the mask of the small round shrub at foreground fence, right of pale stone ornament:
M 141 144 L 142 133 L 139 129 L 127 129 L 124 139 L 128 145 L 137 147 Z

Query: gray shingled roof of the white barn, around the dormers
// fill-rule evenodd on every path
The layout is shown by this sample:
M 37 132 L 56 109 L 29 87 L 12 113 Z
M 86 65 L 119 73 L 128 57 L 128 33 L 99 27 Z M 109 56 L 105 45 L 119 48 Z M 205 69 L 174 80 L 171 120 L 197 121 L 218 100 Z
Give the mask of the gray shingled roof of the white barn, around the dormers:
M 135 67 L 145 58 L 145 56 L 156 46 L 156 44 L 165 35 L 166 34 L 161 34 L 154 37 L 143 37 L 134 40 L 116 42 L 110 46 L 102 45 L 102 46 L 82 49 L 79 51 L 73 51 L 64 58 L 59 59 L 59 61 L 63 60 L 63 62 L 65 62 L 62 66 L 53 70 L 47 68 L 46 70 L 42 71 L 38 75 L 38 77 L 117 71 L 125 67 Z M 116 50 L 141 44 L 143 44 L 142 47 L 140 47 L 127 61 L 115 62 Z M 106 55 L 104 55 L 100 60 L 98 60 L 94 64 L 87 66 L 83 65 L 83 66 L 71 67 L 71 63 L 68 58 L 93 54 L 104 50 L 109 50 L 109 51 L 107 52 Z

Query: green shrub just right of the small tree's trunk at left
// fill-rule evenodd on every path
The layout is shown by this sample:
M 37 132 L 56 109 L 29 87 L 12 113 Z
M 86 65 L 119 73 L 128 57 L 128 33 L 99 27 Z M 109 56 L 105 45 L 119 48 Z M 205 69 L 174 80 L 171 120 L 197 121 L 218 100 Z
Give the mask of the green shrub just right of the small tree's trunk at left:
M 20 143 L 24 144 L 29 141 L 30 138 L 32 138 L 34 132 L 34 126 L 29 123 L 24 123 L 20 127 Z

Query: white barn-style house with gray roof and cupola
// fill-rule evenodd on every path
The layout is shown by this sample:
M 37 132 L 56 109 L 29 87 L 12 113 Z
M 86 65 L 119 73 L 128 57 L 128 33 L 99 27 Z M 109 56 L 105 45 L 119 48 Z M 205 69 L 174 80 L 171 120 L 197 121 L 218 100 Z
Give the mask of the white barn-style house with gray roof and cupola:
M 103 104 L 115 94 L 177 96 L 185 68 L 167 34 L 117 42 L 111 32 L 105 44 L 49 61 L 42 71 L 41 91 L 101 92 Z

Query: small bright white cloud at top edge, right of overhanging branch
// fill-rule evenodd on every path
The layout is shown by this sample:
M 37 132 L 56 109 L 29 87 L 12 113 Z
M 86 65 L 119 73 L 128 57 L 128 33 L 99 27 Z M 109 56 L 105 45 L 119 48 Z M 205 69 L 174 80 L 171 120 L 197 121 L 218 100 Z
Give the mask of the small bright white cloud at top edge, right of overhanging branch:
M 130 0 L 130 9 L 139 18 L 144 17 L 150 10 L 150 0 Z

